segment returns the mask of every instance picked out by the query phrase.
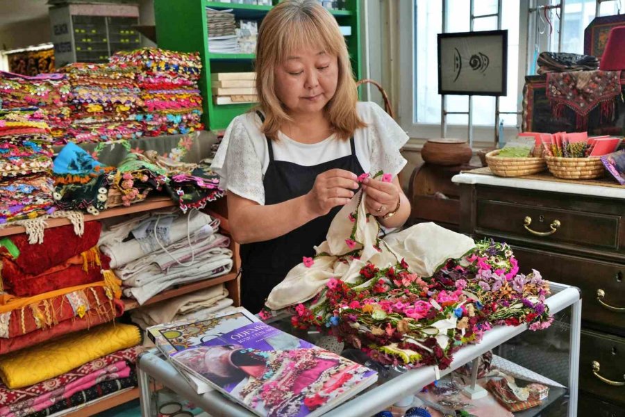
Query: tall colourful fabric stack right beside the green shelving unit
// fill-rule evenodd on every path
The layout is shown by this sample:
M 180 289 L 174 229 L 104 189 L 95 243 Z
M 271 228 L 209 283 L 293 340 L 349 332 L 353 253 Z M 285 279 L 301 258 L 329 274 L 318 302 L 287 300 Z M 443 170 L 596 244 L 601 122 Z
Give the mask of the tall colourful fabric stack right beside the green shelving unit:
M 144 114 L 137 115 L 146 136 L 188 133 L 203 129 L 202 97 L 197 85 L 199 54 L 143 48 L 119 51 L 112 63 L 138 67 L 137 83 Z

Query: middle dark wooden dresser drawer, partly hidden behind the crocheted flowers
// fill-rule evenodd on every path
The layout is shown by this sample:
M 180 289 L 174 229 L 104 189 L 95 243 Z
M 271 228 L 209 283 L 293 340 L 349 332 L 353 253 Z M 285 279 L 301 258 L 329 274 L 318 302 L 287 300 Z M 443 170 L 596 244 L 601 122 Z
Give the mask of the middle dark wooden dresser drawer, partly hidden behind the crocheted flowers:
M 582 293 L 582 319 L 602 330 L 625 336 L 625 311 L 617 312 L 609 306 L 625 307 L 625 265 L 590 261 L 577 256 L 552 254 L 540 250 L 512 246 L 522 273 L 538 270 L 544 279 L 580 288 Z M 601 304 L 597 291 L 605 295 Z

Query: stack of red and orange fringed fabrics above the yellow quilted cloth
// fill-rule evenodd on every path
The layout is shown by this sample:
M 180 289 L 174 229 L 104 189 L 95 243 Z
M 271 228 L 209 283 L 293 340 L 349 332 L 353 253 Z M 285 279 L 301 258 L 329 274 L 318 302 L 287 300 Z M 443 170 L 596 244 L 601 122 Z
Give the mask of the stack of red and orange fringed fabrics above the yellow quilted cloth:
M 26 234 L 1 240 L 0 354 L 37 345 L 113 320 L 124 312 L 121 281 L 100 254 L 99 222 L 44 231 L 42 244 Z

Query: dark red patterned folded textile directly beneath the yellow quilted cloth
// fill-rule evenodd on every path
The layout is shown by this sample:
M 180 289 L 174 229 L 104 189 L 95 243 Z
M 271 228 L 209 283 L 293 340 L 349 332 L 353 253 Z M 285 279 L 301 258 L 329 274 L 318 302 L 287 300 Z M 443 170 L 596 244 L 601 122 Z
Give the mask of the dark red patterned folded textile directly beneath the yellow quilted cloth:
M 92 361 L 79 366 L 76 369 L 70 370 L 63 375 L 47 379 L 43 382 L 27 386 L 21 389 L 8 389 L 4 384 L 0 382 L 0 402 L 3 406 L 0 408 L 0 415 L 8 412 L 9 404 L 16 404 L 18 402 L 33 401 L 40 395 L 45 393 L 51 393 L 55 395 L 59 390 L 62 391 L 65 386 L 72 386 L 72 384 L 82 384 L 83 379 L 89 379 L 90 375 L 99 373 L 107 366 L 119 363 L 119 361 L 126 361 L 128 363 L 135 363 L 137 357 L 144 348 L 140 345 L 132 347 L 126 347 L 121 350 L 117 350 L 103 357 L 99 357 Z

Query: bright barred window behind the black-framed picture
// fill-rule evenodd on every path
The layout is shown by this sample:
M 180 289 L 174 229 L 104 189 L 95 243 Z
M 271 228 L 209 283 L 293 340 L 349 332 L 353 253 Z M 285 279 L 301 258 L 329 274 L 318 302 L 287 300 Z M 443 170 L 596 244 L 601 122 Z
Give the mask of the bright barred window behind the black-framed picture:
M 443 0 L 399 2 L 400 33 L 400 122 L 412 138 L 441 135 L 441 97 L 438 95 L 436 35 L 442 31 Z M 528 13 L 535 4 L 557 4 L 559 0 L 502 0 L 501 28 L 508 30 L 508 95 L 500 97 L 499 110 L 520 111 L 525 74 L 535 74 L 540 51 L 558 48 L 559 18 L 548 10 L 548 19 Z M 609 3 L 609 4 L 608 4 Z M 447 0 L 447 32 L 469 31 L 467 0 Z M 618 1 L 604 1 L 601 15 L 617 13 Z M 474 15 L 497 13 L 497 0 L 474 1 Z M 562 51 L 583 53 L 584 29 L 594 19 L 595 0 L 566 0 L 562 25 Z M 549 28 L 551 23 L 551 30 Z M 474 31 L 497 29 L 497 17 L 474 20 Z M 529 35 L 529 36 L 528 36 Z M 537 41 L 537 42 L 536 42 Z M 537 44 L 538 47 L 527 47 Z M 410 86 L 410 88 L 408 88 Z M 473 97 L 476 145 L 492 145 L 494 138 L 494 97 Z M 467 111 L 467 96 L 447 96 L 447 111 Z M 519 131 L 517 115 L 501 115 L 503 136 Z M 467 115 L 447 115 L 447 137 L 467 138 Z

